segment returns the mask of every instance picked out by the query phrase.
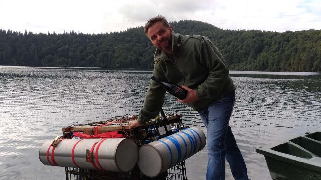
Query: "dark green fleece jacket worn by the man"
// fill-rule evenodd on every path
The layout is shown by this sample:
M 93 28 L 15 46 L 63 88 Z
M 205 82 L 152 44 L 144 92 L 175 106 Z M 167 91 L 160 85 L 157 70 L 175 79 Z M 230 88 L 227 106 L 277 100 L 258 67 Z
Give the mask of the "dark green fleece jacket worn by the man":
M 236 87 L 224 57 L 207 37 L 173 32 L 172 40 L 172 55 L 156 49 L 153 76 L 195 90 L 199 100 L 188 103 L 194 110 L 201 110 L 215 100 L 235 94 Z M 165 92 L 159 83 L 150 81 L 139 112 L 140 124 L 158 115 Z

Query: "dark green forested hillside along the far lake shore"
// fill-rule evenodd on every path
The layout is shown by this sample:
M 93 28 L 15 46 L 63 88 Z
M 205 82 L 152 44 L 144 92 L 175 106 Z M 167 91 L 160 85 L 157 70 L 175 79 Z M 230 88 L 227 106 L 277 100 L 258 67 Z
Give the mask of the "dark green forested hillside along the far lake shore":
M 321 72 L 321 30 L 223 30 L 184 20 L 176 33 L 209 37 L 231 70 Z M 0 30 L 0 65 L 153 68 L 155 48 L 143 27 L 124 32 L 35 34 Z

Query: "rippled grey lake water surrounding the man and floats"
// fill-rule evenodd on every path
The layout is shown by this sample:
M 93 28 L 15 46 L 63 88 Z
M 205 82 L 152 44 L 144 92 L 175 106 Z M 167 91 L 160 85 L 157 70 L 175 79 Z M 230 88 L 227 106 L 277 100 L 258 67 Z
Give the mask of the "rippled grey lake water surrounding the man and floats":
M 40 146 L 71 124 L 138 114 L 152 70 L 0 66 L 0 180 L 64 180 L 64 167 L 43 165 Z M 271 180 L 255 148 L 321 131 L 321 76 L 231 71 L 237 86 L 230 126 L 252 180 Z M 166 113 L 204 132 L 198 114 L 169 94 Z M 205 133 L 206 134 L 206 133 Z M 189 180 L 205 179 L 206 148 L 186 160 Z M 232 180 L 230 170 L 226 179 Z

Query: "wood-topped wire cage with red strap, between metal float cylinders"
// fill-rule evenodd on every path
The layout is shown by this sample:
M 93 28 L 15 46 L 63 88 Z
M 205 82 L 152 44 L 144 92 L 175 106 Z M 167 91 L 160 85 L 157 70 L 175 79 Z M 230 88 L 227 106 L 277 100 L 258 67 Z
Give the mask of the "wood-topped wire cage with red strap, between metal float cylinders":
M 183 125 L 181 117 L 181 114 L 167 115 L 174 132 L 188 128 Z M 118 131 L 118 133 L 123 135 L 123 138 L 133 140 L 137 144 L 138 148 L 144 144 L 157 141 L 158 136 L 155 131 L 155 120 L 152 119 L 143 126 L 129 129 L 129 122 L 136 119 L 138 119 L 138 116 L 136 115 L 125 115 L 120 118 L 112 117 L 104 121 L 88 124 L 73 124 L 62 128 L 62 138 L 75 138 L 74 134 L 77 133 L 82 133 L 88 136 L 99 136 L 104 133 L 106 134 L 108 132 Z M 74 167 L 65 167 L 65 173 L 66 180 L 187 180 L 185 161 L 177 163 L 175 166 L 154 178 L 144 176 L 137 165 L 128 173 L 107 172 Z

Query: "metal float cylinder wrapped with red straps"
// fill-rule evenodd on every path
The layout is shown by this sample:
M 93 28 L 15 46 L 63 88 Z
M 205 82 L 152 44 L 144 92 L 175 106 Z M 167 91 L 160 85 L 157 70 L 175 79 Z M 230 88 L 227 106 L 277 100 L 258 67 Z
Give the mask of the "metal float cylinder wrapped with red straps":
M 129 172 L 137 163 L 138 147 L 130 139 L 63 139 L 56 147 L 53 140 L 39 149 L 45 165 Z

